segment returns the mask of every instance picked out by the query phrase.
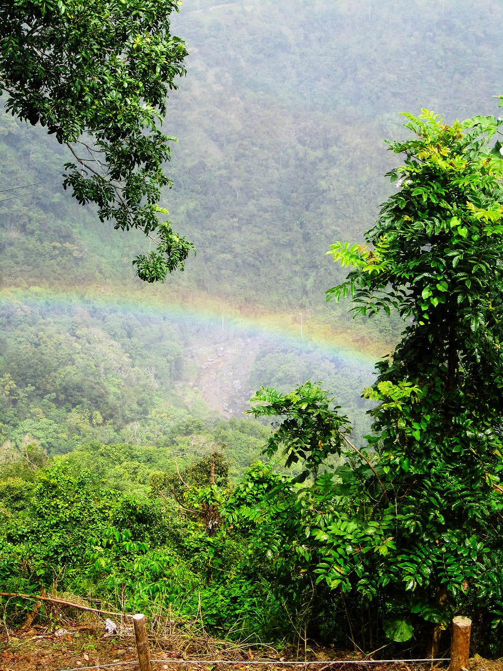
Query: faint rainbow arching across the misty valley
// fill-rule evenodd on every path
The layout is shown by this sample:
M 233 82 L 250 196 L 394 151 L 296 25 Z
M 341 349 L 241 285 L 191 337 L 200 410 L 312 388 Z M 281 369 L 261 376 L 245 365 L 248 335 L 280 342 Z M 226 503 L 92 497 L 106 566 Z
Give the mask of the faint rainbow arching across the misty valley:
M 64 291 L 44 286 L 6 287 L 0 291 L 0 309 L 15 305 L 58 311 L 98 309 L 104 312 L 134 314 L 137 319 L 183 320 L 186 324 L 207 329 L 223 329 L 236 335 L 260 335 L 270 342 L 281 342 L 302 351 L 319 350 L 330 359 L 343 360 L 347 366 L 372 373 L 374 364 L 390 346 L 379 350 L 375 343 L 357 333 L 335 329 L 320 323 L 315 316 L 293 313 L 270 313 L 251 307 L 247 313 L 210 297 L 180 297 L 162 293 L 152 287 L 133 287 L 127 293 L 115 287 L 80 287 Z

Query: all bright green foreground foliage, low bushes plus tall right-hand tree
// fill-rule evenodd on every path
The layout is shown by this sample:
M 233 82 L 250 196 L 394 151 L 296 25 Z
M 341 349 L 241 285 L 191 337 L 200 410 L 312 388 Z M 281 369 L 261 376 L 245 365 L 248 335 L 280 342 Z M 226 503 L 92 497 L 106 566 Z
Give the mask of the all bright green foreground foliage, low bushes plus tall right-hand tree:
M 414 636 L 433 656 L 462 612 L 474 645 L 500 652 L 501 122 L 407 118 L 415 137 L 390 144 L 405 162 L 368 245 L 331 250 L 354 270 L 329 296 L 406 318 L 364 394 L 376 404 L 367 446 L 312 382 L 252 399 L 255 415 L 278 417 L 265 450 L 300 466 L 289 475 L 256 462 L 233 484 L 215 452 L 156 470 L 155 450 L 123 445 L 45 464 L 25 446 L 1 488 L 9 589 L 35 592 L 56 575 L 61 590 L 197 612 L 229 635 L 359 648 Z M 117 469 L 121 491 L 110 488 Z M 19 605 L 5 608 L 15 617 Z

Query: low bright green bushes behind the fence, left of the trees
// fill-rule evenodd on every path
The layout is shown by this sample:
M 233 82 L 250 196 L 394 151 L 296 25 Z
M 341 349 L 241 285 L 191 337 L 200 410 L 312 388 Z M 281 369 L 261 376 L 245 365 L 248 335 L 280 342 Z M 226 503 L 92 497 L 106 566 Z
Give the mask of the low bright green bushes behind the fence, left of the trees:
M 273 531 L 267 525 L 264 535 L 252 511 L 278 484 L 292 499 L 288 480 L 257 462 L 232 489 L 219 454 L 170 474 L 152 470 L 148 452 L 136 448 L 152 480 L 152 488 L 138 488 L 130 452 L 130 446 L 95 445 L 48 463 L 28 446 L 24 456 L 4 463 L 4 590 L 36 594 L 44 586 L 105 599 L 127 612 L 168 609 L 178 623 L 196 616 L 203 627 L 225 627 L 234 637 L 286 633 L 284 605 L 270 588 L 275 571 L 268 547 L 257 551 L 260 538 L 268 541 Z M 111 488 L 114 470 L 121 472 L 121 491 Z M 288 595 L 286 584 L 282 590 Z M 10 621 L 26 607 L 3 601 Z

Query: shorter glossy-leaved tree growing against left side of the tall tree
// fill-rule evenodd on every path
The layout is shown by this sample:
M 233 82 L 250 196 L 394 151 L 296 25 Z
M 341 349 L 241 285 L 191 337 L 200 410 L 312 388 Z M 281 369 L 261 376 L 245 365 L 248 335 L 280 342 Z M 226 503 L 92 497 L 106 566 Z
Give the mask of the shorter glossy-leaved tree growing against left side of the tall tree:
M 340 630 L 336 623 L 347 619 L 354 641 L 344 593 L 368 582 L 376 558 L 387 554 L 393 541 L 392 515 L 374 519 L 375 502 L 383 496 L 388 501 L 384 484 L 370 455 L 349 440 L 347 417 L 339 415 L 325 389 L 311 382 L 285 395 L 262 388 L 251 400 L 259 402 L 250 411 L 254 415 L 280 417 L 264 452 L 272 457 L 282 450 L 286 466 L 302 462 L 303 470 L 282 478 L 282 487 L 241 515 L 268 522 L 261 533 L 270 538 L 258 546 L 270 548 L 273 589 L 289 603 L 296 631 L 333 640 Z M 334 454 L 338 465 L 329 463 Z M 292 488 L 308 475 L 311 482 Z M 366 597 L 356 594 L 351 601 L 353 612 L 363 606 L 366 613 Z M 365 639 L 362 634 L 361 644 Z M 337 642 L 344 644 L 345 635 Z

